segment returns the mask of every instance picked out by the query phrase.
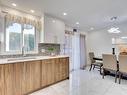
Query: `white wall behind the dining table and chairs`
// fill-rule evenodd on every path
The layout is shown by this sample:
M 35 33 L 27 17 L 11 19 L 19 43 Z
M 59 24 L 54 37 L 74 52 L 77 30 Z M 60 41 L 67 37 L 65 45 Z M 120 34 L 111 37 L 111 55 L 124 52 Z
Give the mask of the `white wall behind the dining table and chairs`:
M 119 34 L 110 34 L 108 29 L 111 27 L 105 28 L 99 31 L 88 32 L 87 39 L 87 52 L 94 52 L 96 56 L 102 56 L 103 53 L 112 53 L 112 47 L 116 48 L 116 54 L 119 53 L 117 45 L 112 45 L 112 38 L 120 38 L 122 36 L 127 36 L 127 23 L 117 25 L 121 33 Z

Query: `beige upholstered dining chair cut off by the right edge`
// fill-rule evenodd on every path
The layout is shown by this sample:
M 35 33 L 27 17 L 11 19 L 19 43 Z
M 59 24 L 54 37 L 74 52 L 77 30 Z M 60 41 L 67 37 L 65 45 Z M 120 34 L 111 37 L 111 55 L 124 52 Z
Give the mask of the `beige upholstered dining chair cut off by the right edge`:
M 127 74 L 127 55 L 119 55 L 119 84 L 123 74 Z

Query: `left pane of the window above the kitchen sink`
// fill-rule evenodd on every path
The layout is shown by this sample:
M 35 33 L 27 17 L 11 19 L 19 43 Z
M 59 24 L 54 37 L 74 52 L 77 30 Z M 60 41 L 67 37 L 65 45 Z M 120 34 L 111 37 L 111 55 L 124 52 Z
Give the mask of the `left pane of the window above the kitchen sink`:
M 21 49 L 21 24 L 10 23 L 6 27 L 6 51 L 20 51 Z

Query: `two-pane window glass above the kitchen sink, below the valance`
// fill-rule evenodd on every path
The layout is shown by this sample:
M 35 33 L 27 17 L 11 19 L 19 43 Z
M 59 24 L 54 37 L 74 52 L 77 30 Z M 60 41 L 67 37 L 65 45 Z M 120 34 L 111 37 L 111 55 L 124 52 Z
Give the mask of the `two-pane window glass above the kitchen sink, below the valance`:
M 7 22 L 5 33 L 5 45 L 6 52 L 20 53 L 22 47 L 24 47 L 25 52 L 35 51 L 36 28 L 29 24 Z

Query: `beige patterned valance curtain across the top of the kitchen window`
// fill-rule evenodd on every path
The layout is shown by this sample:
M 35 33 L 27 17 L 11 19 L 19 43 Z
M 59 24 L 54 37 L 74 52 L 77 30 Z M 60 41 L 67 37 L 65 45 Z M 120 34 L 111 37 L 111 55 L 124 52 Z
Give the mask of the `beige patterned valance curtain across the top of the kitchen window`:
M 27 17 L 21 17 L 17 15 L 7 14 L 5 16 L 6 22 L 17 22 L 21 24 L 30 24 L 36 27 L 38 31 L 41 31 L 41 21 L 39 19 L 30 19 Z

